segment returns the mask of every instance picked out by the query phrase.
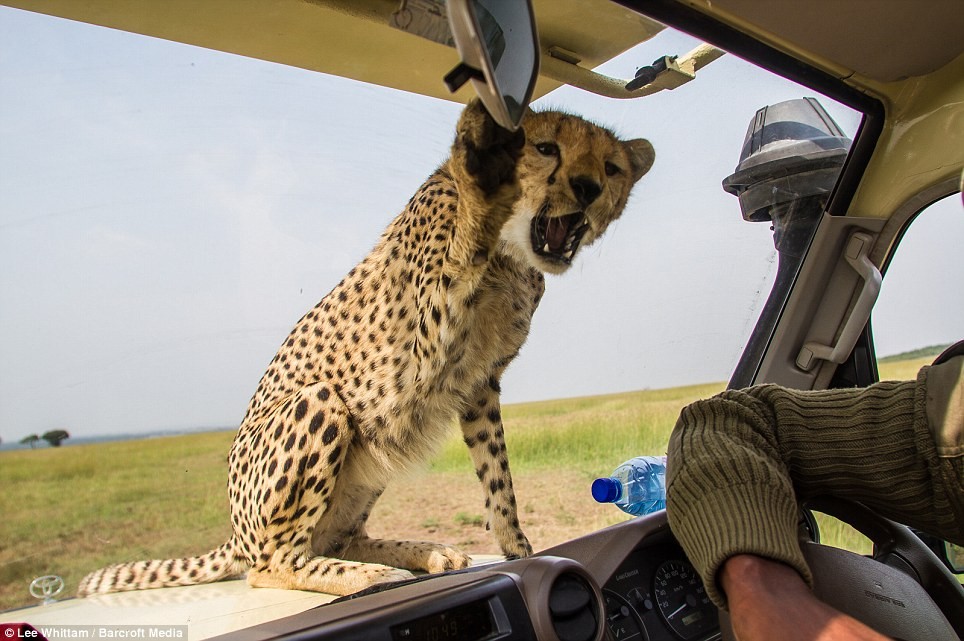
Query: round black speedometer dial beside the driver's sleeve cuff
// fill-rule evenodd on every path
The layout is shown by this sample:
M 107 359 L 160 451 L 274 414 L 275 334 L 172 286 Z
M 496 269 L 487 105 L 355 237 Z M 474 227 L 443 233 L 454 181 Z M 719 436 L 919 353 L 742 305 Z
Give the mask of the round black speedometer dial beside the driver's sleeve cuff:
M 716 606 L 688 561 L 665 561 L 656 568 L 653 595 L 666 624 L 686 641 L 700 638 L 719 624 Z

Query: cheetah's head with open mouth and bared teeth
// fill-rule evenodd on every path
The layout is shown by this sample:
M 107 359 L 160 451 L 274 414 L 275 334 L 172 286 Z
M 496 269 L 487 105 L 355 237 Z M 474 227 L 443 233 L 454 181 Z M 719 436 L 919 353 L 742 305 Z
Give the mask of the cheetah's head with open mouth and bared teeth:
M 622 141 L 603 127 L 556 111 L 530 112 L 518 164 L 522 194 L 502 229 L 503 251 L 561 274 L 579 248 L 622 213 L 653 164 L 648 140 Z

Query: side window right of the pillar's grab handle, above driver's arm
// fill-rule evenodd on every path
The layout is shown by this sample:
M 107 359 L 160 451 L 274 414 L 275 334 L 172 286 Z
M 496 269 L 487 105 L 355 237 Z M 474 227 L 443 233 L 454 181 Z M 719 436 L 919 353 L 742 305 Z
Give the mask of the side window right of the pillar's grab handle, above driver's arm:
M 923 209 L 904 233 L 874 306 L 881 380 L 913 378 L 964 339 L 964 205 L 953 194 Z

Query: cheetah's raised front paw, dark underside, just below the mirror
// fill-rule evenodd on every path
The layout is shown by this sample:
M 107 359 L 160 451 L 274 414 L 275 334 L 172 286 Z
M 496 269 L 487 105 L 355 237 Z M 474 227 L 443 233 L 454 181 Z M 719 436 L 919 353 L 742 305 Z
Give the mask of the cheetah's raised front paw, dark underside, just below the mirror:
M 515 180 L 515 167 L 525 145 L 525 132 L 503 129 L 482 102 L 473 100 L 462 112 L 457 127 L 456 149 L 464 154 L 464 166 L 486 196 Z

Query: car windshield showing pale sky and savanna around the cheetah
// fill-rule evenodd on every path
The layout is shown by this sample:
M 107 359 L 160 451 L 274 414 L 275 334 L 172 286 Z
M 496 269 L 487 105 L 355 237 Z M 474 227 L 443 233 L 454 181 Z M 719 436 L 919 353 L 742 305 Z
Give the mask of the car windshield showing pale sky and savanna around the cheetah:
M 699 44 L 667 30 L 597 71 Z M 462 105 L 7 8 L 0 94 L 2 610 L 36 576 L 73 590 L 230 535 L 225 457 L 259 378 L 447 156 Z M 733 375 L 781 256 L 722 183 L 757 111 L 804 97 L 854 137 L 861 114 L 729 55 L 642 99 L 534 103 L 656 150 L 622 217 L 547 278 L 501 381 L 534 547 L 627 518 L 592 479 L 665 452 L 679 409 Z M 453 425 L 370 529 L 497 553 L 482 499 Z

